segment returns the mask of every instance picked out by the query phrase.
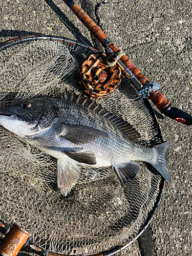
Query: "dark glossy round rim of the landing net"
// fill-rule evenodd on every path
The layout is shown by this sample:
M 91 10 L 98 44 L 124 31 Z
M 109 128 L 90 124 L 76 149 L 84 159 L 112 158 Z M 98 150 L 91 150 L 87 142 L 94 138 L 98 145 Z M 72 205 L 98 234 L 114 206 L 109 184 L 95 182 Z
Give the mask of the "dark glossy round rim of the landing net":
M 97 49 L 95 49 L 95 48 L 93 48 L 93 47 L 91 47 L 89 45 L 86 45 L 86 44 L 83 44 L 82 42 L 79 42 L 78 40 L 73 40 L 73 39 L 66 38 L 66 37 L 61 37 L 61 36 L 35 35 L 35 34 L 33 34 L 33 35 L 26 35 L 26 36 L 19 36 L 19 37 L 12 38 L 12 39 L 10 39 L 8 41 L 2 42 L 0 44 L 0 51 L 3 51 L 5 49 L 7 49 L 7 48 L 10 48 L 10 47 L 18 45 L 18 44 L 22 44 L 23 42 L 37 41 L 37 40 L 60 41 L 60 42 L 63 42 L 63 44 L 64 43 L 68 43 L 68 44 L 72 44 L 72 45 L 75 45 L 75 46 L 78 46 L 78 47 L 83 47 L 83 48 L 86 48 L 86 49 L 91 49 L 93 51 L 96 51 L 97 53 L 100 52 Z M 154 113 L 153 107 L 150 104 L 150 102 L 148 101 L 148 99 L 144 99 L 144 102 L 146 104 L 146 107 L 150 111 L 150 114 L 153 117 L 154 124 L 157 127 L 159 138 L 161 140 L 161 143 L 163 143 L 164 141 L 163 141 L 161 129 L 160 129 L 157 117 L 156 117 L 156 115 Z M 144 224 L 141 226 L 139 232 L 137 233 L 137 236 L 132 241 L 130 241 L 128 244 L 126 244 L 124 246 L 121 246 L 121 245 L 115 246 L 115 247 L 113 247 L 111 249 L 102 251 L 100 253 L 89 254 L 89 255 L 90 256 L 91 255 L 92 256 L 96 256 L 96 255 L 97 256 L 102 256 L 102 255 L 103 256 L 112 256 L 112 255 L 114 255 L 114 254 L 116 254 L 118 252 L 121 252 L 125 248 L 129 247 L 132 243 L 134 243 L 141 236 L 141 234 L 146 230 L 148 225 L 153 220 L 153 218 L 154 218 L 154 216 L 156 214 L 157 208 L 158 208 L 158 206 L 159 206 L 159 204 L 161 202 L 161 199 L 162 199 L 162 195 L 163 195 L 163 191 L 164 191 L 164 186 L 165 186 L 165 180 L 164 180 L 163 177 L 161 177 L 161 182 L 160 182 L 160 185 L 159 185 L 159 194 L 157 196 L 157 199 L 156 199 L 156 202 L 154 204 L 154 207 L 150 211 L 150 213 L 148 214 L 148 217 L 145 220 Z M 3 234 L 7 234 L 9 232 L 11 226 L 5 220 L 3 220 L 1 218 L 1 216 L 0 216 L 0 222 L 3 223 L 3 225 L 0 225 L 0 231 Z M 1 239 L 0 239 L 0 244 L 1 244 Z M 66 254 L 60 254 L 60 253 L 51 252 L 49 250 L 45 250 L 44 248 L 39 247 L 39 245 L 35 244 L 30 239 L 25 243 L 25 245 L 22 248 L 26 248 L 27 251 L 30 251 L 30 252 L 35 253 L 35 254 L 38 254 L 40 256 L 47 256 L 47 255 L 48 256 L 53 256 L 53 255 L 64 255 L 65 256 L 66 255 Z M 88 254 L 86 254 L 86 255 L 89 256 Z M 73 256 L 73 255 L 70 254 L 70 256 Z

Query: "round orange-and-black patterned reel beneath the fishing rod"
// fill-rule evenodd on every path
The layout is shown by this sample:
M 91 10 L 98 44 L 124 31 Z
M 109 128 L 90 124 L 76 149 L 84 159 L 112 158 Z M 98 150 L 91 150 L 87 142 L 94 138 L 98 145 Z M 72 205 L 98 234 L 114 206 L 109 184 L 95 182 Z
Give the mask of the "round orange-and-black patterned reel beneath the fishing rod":
M 78 72 L 78 81 L 83 91 L 93 98 L 109 97 L 121 82 L 121 69 L 116 64 L 113 67 L 107 65 L 115 60 L 115 54 L 111 54 L 108 60 L 105 54 L 100 53 L 92 54 L 84 61 Z

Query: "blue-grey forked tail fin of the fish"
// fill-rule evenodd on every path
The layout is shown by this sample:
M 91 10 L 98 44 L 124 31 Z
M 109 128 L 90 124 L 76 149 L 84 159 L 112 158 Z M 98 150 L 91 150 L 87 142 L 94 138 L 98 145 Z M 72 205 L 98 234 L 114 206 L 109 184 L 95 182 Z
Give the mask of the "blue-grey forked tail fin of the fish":
M 169 172 L 168 172 L 168 168 L 167 168 L 167 162 L 166 162 L 168 152 L 169 152 L 169 146 L 170 146 L 169 142 L 164 142 L 164 143 L 155 145 L 153 148 L 155 148 L 157 152 L 157 162 L 155 164 L 154 163 L 150 163 L 150 164 L 153 165 L 158 170 L 158 172 L 163 176 L 163 178 L 166 181 L 168 181 L 169 183 L 172 183 Z

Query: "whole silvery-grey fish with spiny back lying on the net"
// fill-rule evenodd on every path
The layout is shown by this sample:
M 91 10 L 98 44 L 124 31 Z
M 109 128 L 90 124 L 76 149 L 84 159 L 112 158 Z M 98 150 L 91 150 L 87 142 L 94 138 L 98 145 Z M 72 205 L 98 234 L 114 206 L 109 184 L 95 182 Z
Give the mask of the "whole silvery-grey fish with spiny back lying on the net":
M 57 159 L 57 185 L 67 196 L 80 176 L 79 166 L 112 167 L 120 182 L 133 180 L 150 163 L 171 183 L 169 142 L 153 147 L 138 143 L 134 127 L 96 101 L 67 90 L 61 98 L 32 98 L 0 110 L 0 125 Z

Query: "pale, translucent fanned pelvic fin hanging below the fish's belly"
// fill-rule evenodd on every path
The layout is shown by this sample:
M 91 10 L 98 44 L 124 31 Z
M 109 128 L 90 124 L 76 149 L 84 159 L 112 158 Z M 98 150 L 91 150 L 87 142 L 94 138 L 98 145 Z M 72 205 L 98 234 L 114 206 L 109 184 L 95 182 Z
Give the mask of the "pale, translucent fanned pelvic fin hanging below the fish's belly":
M 80 175 L 79 167 L 67 160 L 57 160 L 57 185 L 64 196 L 67 196 Z

